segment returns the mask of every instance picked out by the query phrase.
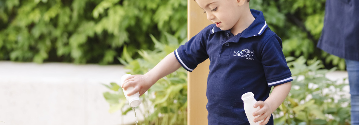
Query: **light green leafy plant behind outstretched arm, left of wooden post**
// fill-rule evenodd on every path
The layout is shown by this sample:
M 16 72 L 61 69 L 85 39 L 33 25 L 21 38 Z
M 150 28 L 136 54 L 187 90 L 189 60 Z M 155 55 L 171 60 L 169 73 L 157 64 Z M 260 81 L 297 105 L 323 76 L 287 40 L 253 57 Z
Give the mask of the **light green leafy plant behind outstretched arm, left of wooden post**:
M 127 53 L 127 47 L 123 49 L 123 56 L 119 60 L 125 64 L 126 68 L 131 69 L 129 74 L 145 74 L 161 61 L 169 53 L 173 52 L 180 45 L 175 36 L 165 33 L 167 42 L 159 42 L 154 36 L 150 35 L 155 44 L 155 50 L 137 51 L 141 58 L 132 59 Z M 181 41 L 181 43 L 187 40 Z M 111 83 L 107 86 L 111 92 L 103 93 L 105 99 L 110 104 L 110 112 L 121 110 L 122 114 L 131 111 L 131 107 L 126 103 L 119 85 Z M 140 124 L 144 125 L 186 125 L 187 124 L 187 71 L 183 68 L 167 75 L 155 83 L 141 97 L 144 106 L 142 114 L 145 120 Z M 125 104 L 126 103 L 126 104 Z

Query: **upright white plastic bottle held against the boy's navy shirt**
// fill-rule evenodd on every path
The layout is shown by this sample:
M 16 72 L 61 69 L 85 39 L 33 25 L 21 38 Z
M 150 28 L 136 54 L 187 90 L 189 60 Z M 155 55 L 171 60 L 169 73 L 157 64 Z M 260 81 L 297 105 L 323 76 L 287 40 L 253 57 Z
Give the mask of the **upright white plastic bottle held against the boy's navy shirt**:
M 260 116 L 260 115 L 253 116 L 253 113 L 261 109 L 259 106 L 257 108 L 253 107 L 253 105 L 256 104 L 257 102 L 257 100 L 254 99 L 254 94 L 252 92 L 244 93 L 242 95 L 242 100 L 243 100 L 244 112 L 246 112 L 249 123 L 251 125 L 259 125 L 260 123 L 262 123 L 263 120 L 257 121 L 256 123 L 253 121 L 255 118 L 258 118 Z

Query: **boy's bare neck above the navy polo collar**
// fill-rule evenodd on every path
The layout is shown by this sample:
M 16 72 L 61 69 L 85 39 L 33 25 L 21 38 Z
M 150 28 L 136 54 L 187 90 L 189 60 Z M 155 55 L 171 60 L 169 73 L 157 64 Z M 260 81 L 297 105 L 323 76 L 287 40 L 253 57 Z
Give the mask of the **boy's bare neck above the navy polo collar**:
M 237 24 L 231 28 L 230 32 L 236 36 L 238 33 L 241 33 L 243 30 L 248 28 L 248 26 L 250 26 L 254 20 L 255 18 L 253 17 L 251 10 L 248 7 L 248 9 L 245 9 L 242 13 L 242 17 L 238 20 Z

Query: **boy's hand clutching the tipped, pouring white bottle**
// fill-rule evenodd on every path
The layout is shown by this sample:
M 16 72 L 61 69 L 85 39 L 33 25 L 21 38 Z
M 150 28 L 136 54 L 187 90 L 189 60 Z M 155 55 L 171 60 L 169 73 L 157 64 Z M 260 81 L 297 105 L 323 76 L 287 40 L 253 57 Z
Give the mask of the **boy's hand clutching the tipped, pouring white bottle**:
M 125 79 L 121 88 L 127 90 L 128 87 L 134 87 L 134 89 L 127 94 L 127 96 L 140 92 L 140 96 L 144 94 L 155 82 L 146 75 L 131 75 Z

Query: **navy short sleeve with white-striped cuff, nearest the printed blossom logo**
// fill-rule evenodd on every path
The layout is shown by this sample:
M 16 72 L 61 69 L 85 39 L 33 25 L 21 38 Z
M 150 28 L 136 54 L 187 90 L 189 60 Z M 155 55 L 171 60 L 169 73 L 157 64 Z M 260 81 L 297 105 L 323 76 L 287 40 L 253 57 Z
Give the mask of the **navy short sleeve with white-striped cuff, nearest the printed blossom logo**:
M 275 86 L 292 81 L 292 73 L 282 51 L 282 41 L 277 36 L 271 36 L 262 49 L 262 66 L 268 86 Z

